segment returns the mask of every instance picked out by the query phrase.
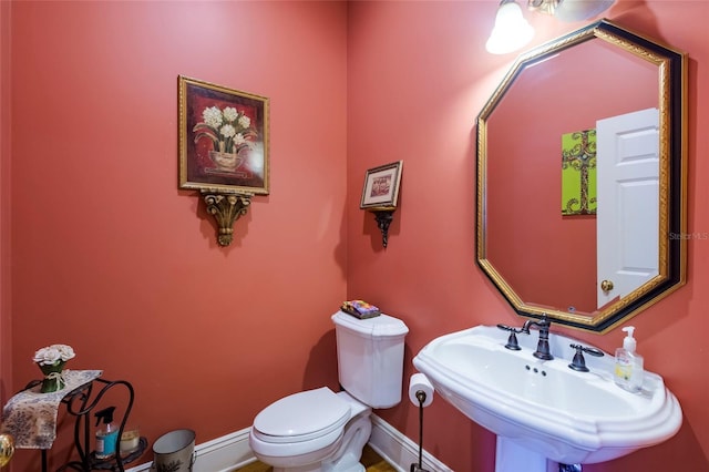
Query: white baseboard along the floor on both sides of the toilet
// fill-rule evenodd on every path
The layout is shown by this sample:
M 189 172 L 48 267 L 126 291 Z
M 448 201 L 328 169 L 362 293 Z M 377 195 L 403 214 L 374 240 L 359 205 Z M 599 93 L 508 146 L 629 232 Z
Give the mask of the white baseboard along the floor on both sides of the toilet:
M 256 461 L 248 447 L 250 428 L 223 435 L 195 445 L 196 461 L 194 472 L 230 472 Z M 409 472 L 411 464 L 419 462 L 419 447 L 414 441 L 397 431 L 391 424 L 372 414 L 372 435 L 369 445 L 399 472 Z M 146 452 L 146 454 L 150 453 Z M 429 454 L 422 454 L 423 469 L 432 472 L 452 472 L 450 468 Z M 127 469 L 126 472 L 145 472 L 152 462 Z

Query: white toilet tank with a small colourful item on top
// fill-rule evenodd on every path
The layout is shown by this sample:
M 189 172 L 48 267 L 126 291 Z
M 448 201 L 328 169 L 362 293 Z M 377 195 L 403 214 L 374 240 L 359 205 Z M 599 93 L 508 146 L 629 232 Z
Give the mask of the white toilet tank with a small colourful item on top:
M 359 319 L 343 311 L 332 315 L 332 321 L 342 388 L 372 408 L 398 404 L 403 382 L 407 325 L 387 315 Z

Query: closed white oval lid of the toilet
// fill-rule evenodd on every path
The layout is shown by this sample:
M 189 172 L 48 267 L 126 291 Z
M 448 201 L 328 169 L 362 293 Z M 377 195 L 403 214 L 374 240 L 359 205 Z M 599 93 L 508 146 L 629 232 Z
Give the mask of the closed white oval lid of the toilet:
M 349 418 L 349 403 L 322 387 L 274 402 L 256 415 L 254 428 L 264 441 L 307 441 L 341 428 Z

